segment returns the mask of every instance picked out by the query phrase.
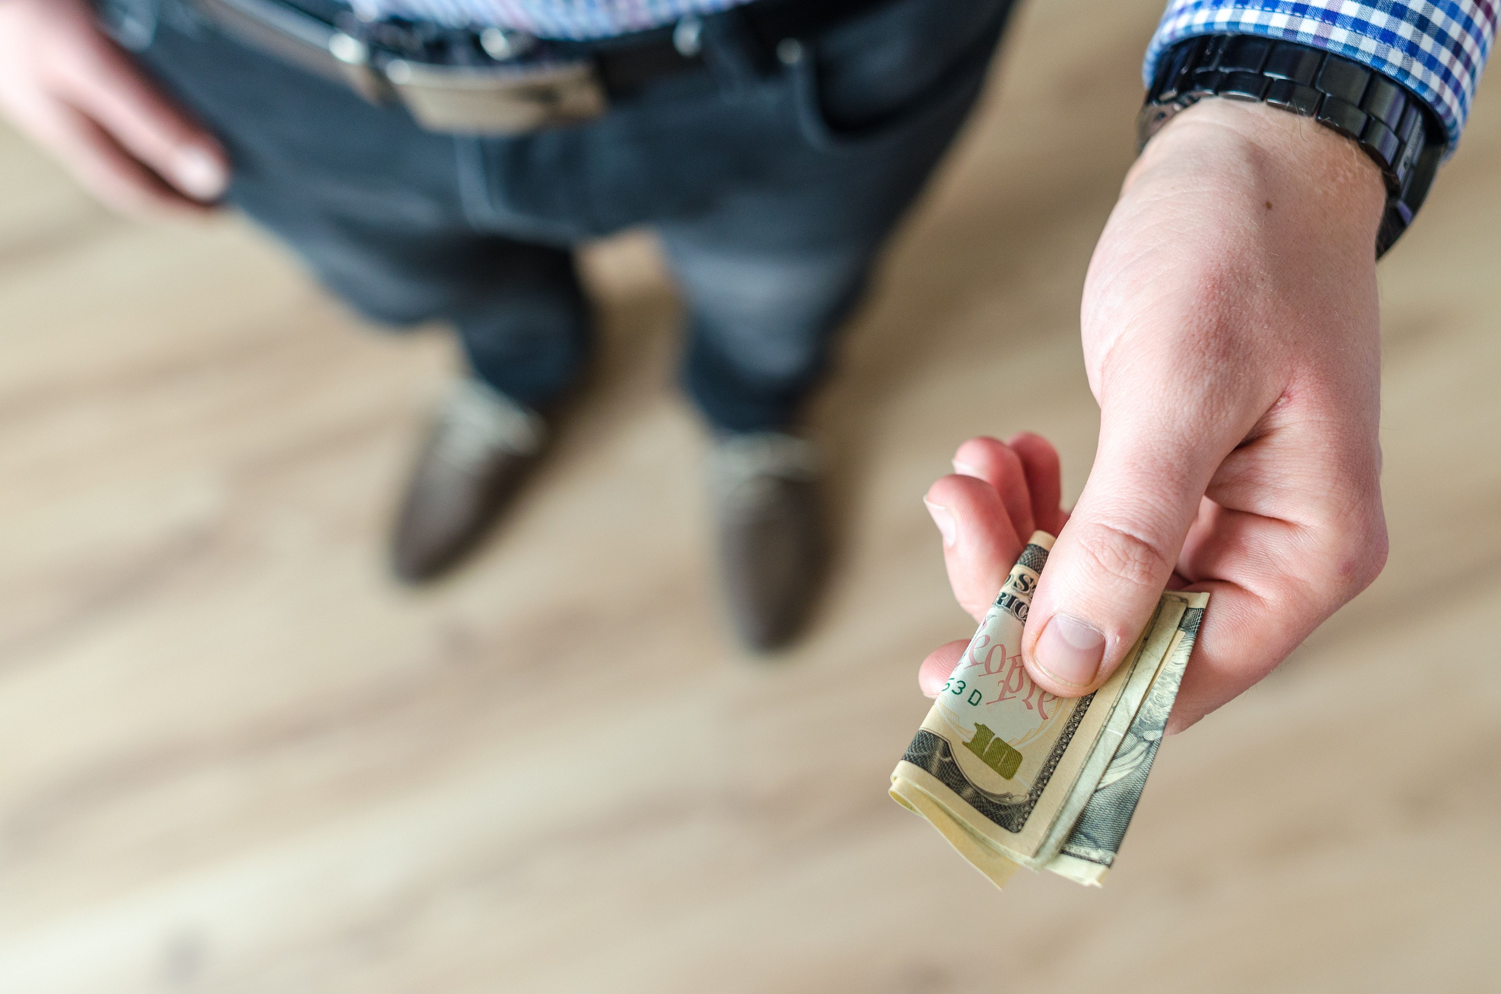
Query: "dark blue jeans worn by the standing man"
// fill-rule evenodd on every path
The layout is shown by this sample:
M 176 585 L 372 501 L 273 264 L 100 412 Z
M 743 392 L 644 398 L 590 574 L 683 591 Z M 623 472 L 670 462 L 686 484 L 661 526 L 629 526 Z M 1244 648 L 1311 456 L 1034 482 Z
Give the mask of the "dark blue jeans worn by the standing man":
M 710 18 L 707 69 L 494 138 L 422 131 L 159 2 L 141 63 L 228 147 L 230 201 L 333 293 L 380 323 L 450 321 L 480 377 L 545 407 L 588 353 L 570 248 L 648 224 L 686 297 L 686 387 L 719 431 L 797 417 L 1010 6 L 893 0 L 770 74 L 732 15 Z

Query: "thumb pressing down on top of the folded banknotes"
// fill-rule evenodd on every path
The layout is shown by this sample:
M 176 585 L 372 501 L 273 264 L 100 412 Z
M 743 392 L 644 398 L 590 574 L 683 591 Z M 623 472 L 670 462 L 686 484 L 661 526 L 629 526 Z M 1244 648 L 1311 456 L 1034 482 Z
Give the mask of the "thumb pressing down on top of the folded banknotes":
M 1060 697 L 1094 691 L 1130 652 L 1223 456 L 1207 452 L 1204 437 L 1175 441 L 1163 428 L 1102 419 L 1090 479 L 1048 556 L 1022 658 L 1033 680 Z

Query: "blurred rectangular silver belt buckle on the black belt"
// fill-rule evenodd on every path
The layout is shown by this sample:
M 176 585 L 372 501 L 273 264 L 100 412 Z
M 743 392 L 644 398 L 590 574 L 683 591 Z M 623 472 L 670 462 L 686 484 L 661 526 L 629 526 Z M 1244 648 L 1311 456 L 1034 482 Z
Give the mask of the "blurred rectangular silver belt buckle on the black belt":
M 591 62 L 470 68 L 398 59 L 383 72 L 428 131 L 515 135 L 599 117 L 608 104 Z

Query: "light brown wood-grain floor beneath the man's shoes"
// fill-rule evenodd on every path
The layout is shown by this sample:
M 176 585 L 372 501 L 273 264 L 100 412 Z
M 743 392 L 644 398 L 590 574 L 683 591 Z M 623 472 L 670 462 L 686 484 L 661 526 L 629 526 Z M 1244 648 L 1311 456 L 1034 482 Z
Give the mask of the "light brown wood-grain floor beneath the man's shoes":
M 1103 892 L 997 893 L 886 796 L 970 631 L 923 489 L 979 432 L 1090 465 L 1079 288 L 1160 6 L 1022 11 L 818 407 L 839 562 L 770 662 L 717 614 L 645 236 L 590 252 L 557 458 L 408 593 L 441 335 L 0 134 L 0 991 L 1498 989 L 1501 86 L 1381 266 L 1376 586 L 1168 742 Z

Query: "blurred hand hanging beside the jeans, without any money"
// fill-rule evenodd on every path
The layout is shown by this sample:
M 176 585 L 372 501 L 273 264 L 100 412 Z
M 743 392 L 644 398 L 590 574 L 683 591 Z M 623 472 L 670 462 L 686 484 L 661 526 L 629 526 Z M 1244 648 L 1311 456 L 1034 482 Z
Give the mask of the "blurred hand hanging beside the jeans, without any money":
M 84 0 L 0 0 L 0 110 L 126 213 L 203 213 L 228 185 L 219 143 L 95 27 Z

